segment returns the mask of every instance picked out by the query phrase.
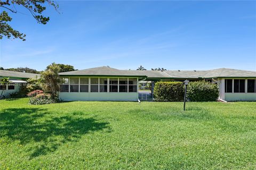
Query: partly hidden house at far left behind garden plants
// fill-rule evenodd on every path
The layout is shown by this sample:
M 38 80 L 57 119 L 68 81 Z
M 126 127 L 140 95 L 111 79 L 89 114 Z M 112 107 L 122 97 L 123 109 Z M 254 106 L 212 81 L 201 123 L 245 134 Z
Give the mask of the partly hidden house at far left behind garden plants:
M 21 86 L 25 86 L 27 79 L 39 77 L 40 74 L 23 73 L 16 71 L 0 70 L 0 78 L 9 78 L 10 84 L 8 86 L 0 86 L 0 94 L 8 97 L 10 94 L 18 92 Z

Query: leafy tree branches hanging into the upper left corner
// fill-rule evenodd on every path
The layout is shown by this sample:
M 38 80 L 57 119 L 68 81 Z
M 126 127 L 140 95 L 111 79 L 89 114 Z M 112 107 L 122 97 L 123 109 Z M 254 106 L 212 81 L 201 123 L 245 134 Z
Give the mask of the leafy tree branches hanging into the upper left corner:
M 7 38 L 20 38 L 25 41 L 26 35 L 13 29 L 8 22 L 12 21 L 12 18 L 8 15 L 8 12 L 17 13 L 17 5 L 25 7 L 28 12 L 36 19 L 37 23 L 46 24 L 50 18 L 49 16 L 43 16 L 42 13 L 46 10 L 45 5 L 49 4 L 58 10 L 58 4 L 52 0 L 0 0 L 0 39 L 4 36 Z M 5 11 L 4 11 L 5 10 Z

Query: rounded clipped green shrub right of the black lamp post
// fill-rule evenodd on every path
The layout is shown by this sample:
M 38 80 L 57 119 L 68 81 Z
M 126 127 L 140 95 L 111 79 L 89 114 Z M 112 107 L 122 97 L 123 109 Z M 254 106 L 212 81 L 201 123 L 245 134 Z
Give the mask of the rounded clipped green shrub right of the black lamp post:
M 187 97 L 190 101 L 216 101 L 219 97 L 219 88 L 217 84 L 211 82 L 190 82 L 187 87 Z

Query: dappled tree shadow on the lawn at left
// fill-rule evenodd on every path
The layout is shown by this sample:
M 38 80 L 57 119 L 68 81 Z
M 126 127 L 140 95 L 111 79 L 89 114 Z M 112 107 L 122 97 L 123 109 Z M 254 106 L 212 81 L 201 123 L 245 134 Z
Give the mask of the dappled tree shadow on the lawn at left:
M 46 155 L 63 143 L 77 142 L 82 135 L 109 128 L 107 122 L 75 116 L 52 117 L 42 108 L 9 108 L 0 112 L 0 137 L 29 145 L 30 159 Z

